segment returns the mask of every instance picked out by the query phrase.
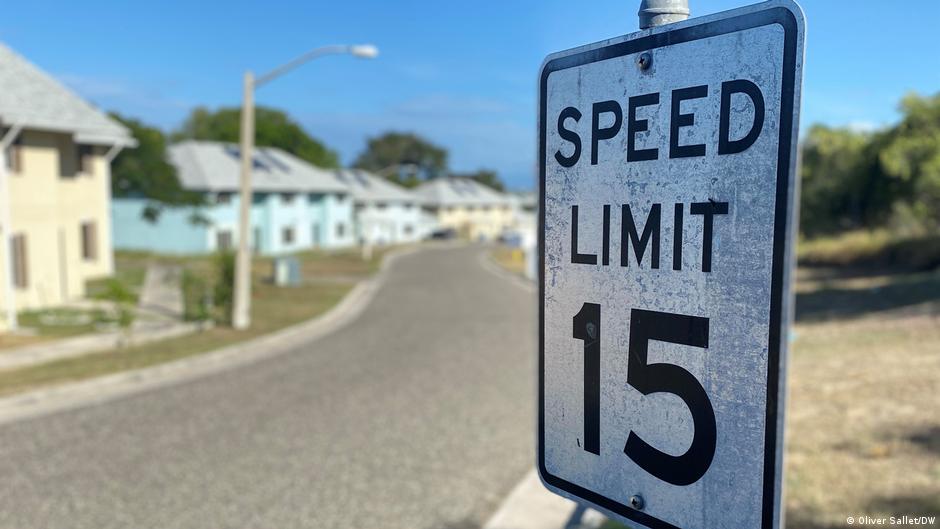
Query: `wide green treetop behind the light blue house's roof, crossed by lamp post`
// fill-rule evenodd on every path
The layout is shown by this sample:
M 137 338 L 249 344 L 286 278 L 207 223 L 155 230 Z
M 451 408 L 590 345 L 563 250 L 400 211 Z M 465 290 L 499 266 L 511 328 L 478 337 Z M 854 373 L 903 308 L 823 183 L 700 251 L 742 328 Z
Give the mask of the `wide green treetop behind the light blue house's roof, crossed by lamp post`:
M 241 109 L 205 107 L 193 109 L 182 127 L 173 134 L 174 141 L 184 139 L 238 143 Z M 319 167 L 339 167 L 339 155 L 313 138 L 286 113 L 268 107 L 255 109 L 255 143 L 277 147 Z

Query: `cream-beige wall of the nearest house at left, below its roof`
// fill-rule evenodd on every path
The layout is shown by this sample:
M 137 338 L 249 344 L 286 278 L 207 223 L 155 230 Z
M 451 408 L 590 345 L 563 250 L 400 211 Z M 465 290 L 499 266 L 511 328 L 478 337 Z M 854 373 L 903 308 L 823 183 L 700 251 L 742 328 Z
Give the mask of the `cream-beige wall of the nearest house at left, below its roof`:
M 90 172 L 83 172 L 68 134 L 26 130 L 17 148 L 19 171 L 6 170 L 6 153 L 0 153 L 0 176 L 9 183 L 10 232 L 26 240 L 28 281 L 16 288 L 16 307 L 55 306 L 83 296 L 85 281 L 113 272 L 110 167 L 105 148 L 95 147 Z M 95 226 L 93 259 L 82 256 L 83 222 Z M 7 251 L 0 245 L 0 255 Z M 0 259 L 0 273 L 8 273 L 5 263 Z M 0 281 L 0 297 L 7 295 Z

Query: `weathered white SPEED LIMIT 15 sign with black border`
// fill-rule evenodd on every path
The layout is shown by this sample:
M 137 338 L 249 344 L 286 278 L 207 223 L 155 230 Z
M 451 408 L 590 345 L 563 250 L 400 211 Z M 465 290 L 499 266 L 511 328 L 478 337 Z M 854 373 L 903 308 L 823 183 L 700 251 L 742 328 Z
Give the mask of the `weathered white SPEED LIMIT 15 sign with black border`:
M 800 8 L 550 55 L 538 466 L 632 527 L 780 524 Z

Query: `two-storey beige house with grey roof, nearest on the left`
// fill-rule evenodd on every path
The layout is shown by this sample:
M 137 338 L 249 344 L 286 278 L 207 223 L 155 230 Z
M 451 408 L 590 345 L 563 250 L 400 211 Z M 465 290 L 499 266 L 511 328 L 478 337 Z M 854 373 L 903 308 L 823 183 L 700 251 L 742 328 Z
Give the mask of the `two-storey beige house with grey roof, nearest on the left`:
M 111 166 L 126 128 L 0 44 L 0 329 L 114 271 Z

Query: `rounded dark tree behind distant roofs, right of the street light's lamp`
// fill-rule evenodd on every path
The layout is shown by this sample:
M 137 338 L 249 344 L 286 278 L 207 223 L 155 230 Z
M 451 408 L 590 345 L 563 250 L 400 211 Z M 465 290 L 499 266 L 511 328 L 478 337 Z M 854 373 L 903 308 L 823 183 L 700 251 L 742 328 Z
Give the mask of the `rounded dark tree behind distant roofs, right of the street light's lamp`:
M 353 166 L 414 187 L 447 174 L 447 150 L 417 134 L 391 131 L 369 138 Z

